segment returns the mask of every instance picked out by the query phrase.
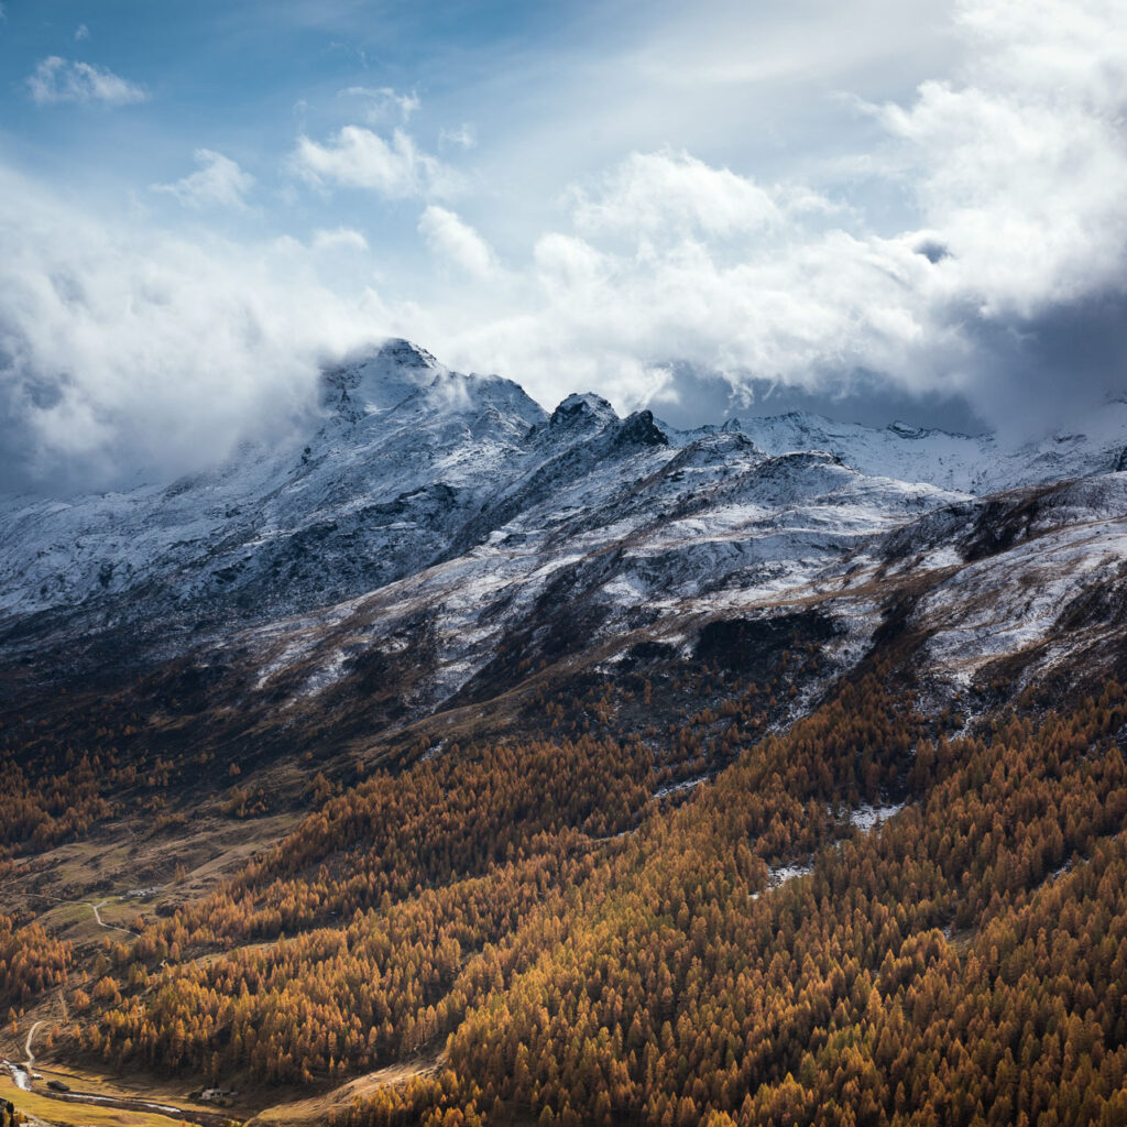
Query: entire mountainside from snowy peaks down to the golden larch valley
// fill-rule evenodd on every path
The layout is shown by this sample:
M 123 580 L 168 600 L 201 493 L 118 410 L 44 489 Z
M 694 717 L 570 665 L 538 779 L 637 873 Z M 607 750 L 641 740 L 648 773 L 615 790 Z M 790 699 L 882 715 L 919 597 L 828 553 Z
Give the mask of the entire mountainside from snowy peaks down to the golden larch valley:
M 28 1121 L 1127 1122 L 1127 403 L 320 391 L 0 500 Z

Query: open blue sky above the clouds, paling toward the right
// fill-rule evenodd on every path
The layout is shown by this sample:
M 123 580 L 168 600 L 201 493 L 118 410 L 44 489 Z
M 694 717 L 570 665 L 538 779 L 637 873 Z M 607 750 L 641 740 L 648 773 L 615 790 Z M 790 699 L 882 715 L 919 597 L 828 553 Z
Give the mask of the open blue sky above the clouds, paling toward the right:
M 299 136 L 406 126 L 456 169 L 462 183 L 450 195 L 467 214 L 521 255 L 565 215 L 575 184 L 631 151 L 685 150 L 774 178 L 863 150 L 878 131 L 841 96 L 911 95 L 929 64 L 950 54 L 929 5 L 906 5 L 881 38 L 853 42 L 840 33 L 858 12 L 833 18 L 823 3 L 761 3 L 751 18 L 739 11 L 746 6 L 692 19 L 678 7 L 8 0 L 3 147 L 59 186 L 81 181 L 83 195 L 109 207 L 140 196 L 171 221 L 180 218 L 175 199 L 145 189 L 188 176 L 198 149 L 222 152 L 256 179 L 254 207 L 234 216 L 240 230 L 302 237 L 353 224 L 384 263 L 410 270 L 415 201 L 299 190 L 286 163 Z M 735 73 L 724 73 L 720 51 Z M 143 100 L 36 103 L 28 77 L 52 56 L 119 76 Z M 713 68 L 719 77 L 701 81 Z M 406 119 L 391 97 L 381 105 L 380 90 L 415 99 Z M 886 223 L 903 218 L 899 194 L 881 203 L 896 213 Z

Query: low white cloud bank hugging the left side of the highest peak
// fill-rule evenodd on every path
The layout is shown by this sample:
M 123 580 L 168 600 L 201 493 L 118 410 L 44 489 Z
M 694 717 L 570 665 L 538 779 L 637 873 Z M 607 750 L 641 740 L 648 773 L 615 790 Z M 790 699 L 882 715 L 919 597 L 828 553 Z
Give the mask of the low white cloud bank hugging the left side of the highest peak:
M 305 247 L 109 225 L 0 167 L 0 491 L 168 480 L 316 402 L 322 361 L 388 334 Z

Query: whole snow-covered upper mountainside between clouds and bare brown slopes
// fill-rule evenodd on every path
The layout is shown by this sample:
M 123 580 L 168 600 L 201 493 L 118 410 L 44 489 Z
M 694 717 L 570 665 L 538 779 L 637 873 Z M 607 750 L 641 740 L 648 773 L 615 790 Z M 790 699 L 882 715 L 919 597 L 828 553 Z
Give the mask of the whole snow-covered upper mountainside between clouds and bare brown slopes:
M 432 703 L 514 631 L 549 649 L 638 629 L 675 644 L 709 615 L 829 598 L 850 604 L 857 649 L 880 621 L 875 577 L 966 567 L 1100 504 L 1112 520 L 1102 478 L 1039 495 L 1024 531 L 1018 502 L 971 494 L 1113 469 L 1121 407 L 1093 436 L 1015 452 L 801 414 L 681 433 L 589 393 L 548 415 L 392 340 L 325 373 L 290 445 L 169 487 L 0 503 L 0 649 L 69 656 L 117 631 L 125 659 L 142 636 L 168 655 L 246 627 L 260 686 L 300 669 L 317 693 L 425 622 Z

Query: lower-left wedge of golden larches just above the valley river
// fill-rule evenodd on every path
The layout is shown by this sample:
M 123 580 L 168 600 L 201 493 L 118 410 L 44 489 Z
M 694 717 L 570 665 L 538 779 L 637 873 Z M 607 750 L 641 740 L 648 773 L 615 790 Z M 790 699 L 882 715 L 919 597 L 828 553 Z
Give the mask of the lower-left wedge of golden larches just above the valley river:
M 495 944 L 532 914 L 566 912 L 562 889 L 582 879 L 586 840 L 544 836 L 532 849 L 533 859 L 382 913 L 357 911 L 335 929 L 152 975 L 134 964 L 124 980 L 105 978 L 100 997 L 96 990 L 108 1008 L 76 1030 L 79 1044 L 116 1067 L 268 1083 L 344 1079 L 415 1054 L 461 1021 L 482 979 L 488 988 L 512 975 Z

